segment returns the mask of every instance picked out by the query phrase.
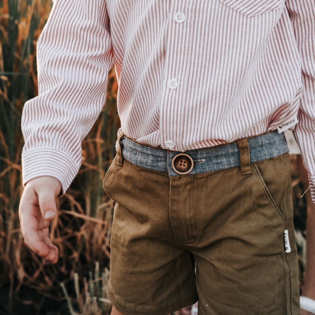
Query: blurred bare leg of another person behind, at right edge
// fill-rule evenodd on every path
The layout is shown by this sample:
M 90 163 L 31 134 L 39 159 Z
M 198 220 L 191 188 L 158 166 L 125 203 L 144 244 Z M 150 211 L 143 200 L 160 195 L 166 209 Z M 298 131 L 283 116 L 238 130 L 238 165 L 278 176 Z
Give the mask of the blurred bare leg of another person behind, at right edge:
M 304 191 L 309 186 L 306 169 L 304 168 L 302 157 L 298 155 L 298 171 L 299 177 L 303 183 Z M 305 193 L 307 203 L 307 219 L 306 219 L 306 271 L 305 281 L 302 288 L 302 295 L 311 299 L 315 299 L 315 203 L 312 202 L 311 192 Z M 301 315 L 311 315 L 312 313 L 301 310 Z

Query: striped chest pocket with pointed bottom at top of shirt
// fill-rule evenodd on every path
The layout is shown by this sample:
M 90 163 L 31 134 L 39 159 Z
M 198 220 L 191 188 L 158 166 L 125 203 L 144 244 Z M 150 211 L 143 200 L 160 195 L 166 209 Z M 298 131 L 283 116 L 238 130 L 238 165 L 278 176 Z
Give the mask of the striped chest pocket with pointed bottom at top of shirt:
M 283 7 L 285 0 L 219 0 L 247 17 L 268 13 Z

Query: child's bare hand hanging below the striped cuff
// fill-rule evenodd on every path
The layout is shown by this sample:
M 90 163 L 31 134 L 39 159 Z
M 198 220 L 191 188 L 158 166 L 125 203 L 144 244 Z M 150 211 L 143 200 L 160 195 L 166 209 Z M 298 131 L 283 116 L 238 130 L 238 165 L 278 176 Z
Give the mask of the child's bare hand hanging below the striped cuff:
M 56 263 L 59 250 L 49 238 L 49 223 L 57 214 L 56 201 L 61 191 L 60 181 L 41 176 L 28 181 L 19 205 L 19 218 L 24 242 L 44 259 Z M 47 217 L 46 217 L 46 216 Z

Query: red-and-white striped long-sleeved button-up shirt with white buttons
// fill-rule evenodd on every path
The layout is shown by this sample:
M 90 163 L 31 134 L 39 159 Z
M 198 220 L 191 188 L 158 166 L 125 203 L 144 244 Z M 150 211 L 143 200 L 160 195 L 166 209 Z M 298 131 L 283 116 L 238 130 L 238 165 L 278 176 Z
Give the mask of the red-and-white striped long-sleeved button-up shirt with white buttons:
M 115 66 L 122 131 L 185 151 L 290 127 L 315 201 L 314 0 L 54 0 L 26 101 L 22 180 L 64 195 Z

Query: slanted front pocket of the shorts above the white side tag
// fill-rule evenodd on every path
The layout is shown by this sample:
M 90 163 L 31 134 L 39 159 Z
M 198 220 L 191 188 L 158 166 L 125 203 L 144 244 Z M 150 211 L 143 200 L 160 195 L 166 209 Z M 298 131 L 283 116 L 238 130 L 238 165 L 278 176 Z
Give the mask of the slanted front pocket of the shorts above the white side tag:
M 289 153 L 285 153 L 289 155 Z M 290 171 L 282 155 L 252 163 L 254 172 L 265 195 L 278 215 L 286 223 L 284 205 L 285 192 L 288 190 Z

